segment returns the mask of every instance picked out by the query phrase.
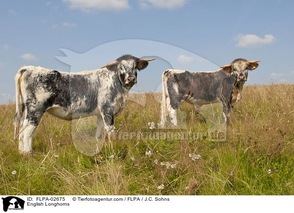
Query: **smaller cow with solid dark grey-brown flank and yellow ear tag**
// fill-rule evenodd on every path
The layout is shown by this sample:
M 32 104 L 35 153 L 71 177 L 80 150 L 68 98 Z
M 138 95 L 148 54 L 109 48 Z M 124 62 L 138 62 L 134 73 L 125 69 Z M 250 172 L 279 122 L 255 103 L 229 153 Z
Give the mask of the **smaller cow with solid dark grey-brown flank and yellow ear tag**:
M 222 112 L 227 121 L 229 110 L 242 98 L 242 90 L 247 80 L 248 70 L 258 67 L 260 61 L 236 59 L 221 70 L 184 71 L 167 70 L 162 75 L 161 126 L 167 121 L 167 114 L 174 126 L 177 126 L 177 110 L 186 101 L 195 106 L 196 111 L 202 105 L 221 103 Z

